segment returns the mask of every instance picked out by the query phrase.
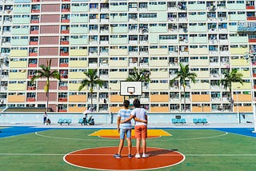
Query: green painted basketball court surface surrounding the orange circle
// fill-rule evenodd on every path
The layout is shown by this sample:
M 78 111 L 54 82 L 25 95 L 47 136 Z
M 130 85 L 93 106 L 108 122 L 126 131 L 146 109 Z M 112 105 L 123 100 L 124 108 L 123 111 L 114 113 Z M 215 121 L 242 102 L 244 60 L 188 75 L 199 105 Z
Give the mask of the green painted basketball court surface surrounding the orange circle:
M 78 149 L 118 146 L 118 139 L 89 136 L 96 131 L 98 129 L 49 129 L 0 138 L 0 168 L 2 171 L 89 170 L 69 165 L 63 161 L 63 157 L 66 153 Z M 254 137 L 214 129 L 164 131 L 172 136 L 150 138 L 147 140 L 147 146 L 177 150 L 184 154 L 186 159 L 178 165 L 157 170 L 240 171 L 256 168 Z M 110 154 L 110 157 L 113 157 L 113 154 Z

